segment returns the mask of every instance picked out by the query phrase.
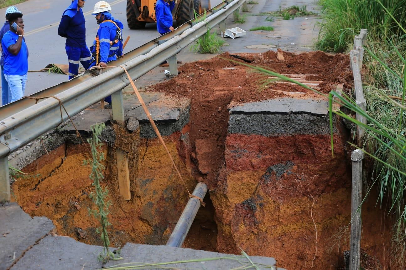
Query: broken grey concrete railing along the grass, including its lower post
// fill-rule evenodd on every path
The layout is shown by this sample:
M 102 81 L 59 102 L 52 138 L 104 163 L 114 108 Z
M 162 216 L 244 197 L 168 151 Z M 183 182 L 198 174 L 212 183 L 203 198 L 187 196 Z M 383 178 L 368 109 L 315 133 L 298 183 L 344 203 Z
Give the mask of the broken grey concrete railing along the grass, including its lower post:
M 367 38 L 367 30 L 361 29 L 358 36 L 354 38 L 354 47 L 350 52 L 350 65 L 354 75 L 355 101 L 363 111 L 367 110 L 367 102 L 364 98 L 361 80 L 361 68 L 364 57 L 364 47 Z M 366 124 L 367 119 L 356 113 L 356 119 Z M 358 145 L 361 145 L 365 130 L 356 126 Z M 350 233 L 350 270 L 360 269 L 361 249 L 361 201 L 362 201 L 362 173 L 364 153 L 356 149 L 351 153 L 352 160 L 352 184 L 351 184 L 351 233 Z

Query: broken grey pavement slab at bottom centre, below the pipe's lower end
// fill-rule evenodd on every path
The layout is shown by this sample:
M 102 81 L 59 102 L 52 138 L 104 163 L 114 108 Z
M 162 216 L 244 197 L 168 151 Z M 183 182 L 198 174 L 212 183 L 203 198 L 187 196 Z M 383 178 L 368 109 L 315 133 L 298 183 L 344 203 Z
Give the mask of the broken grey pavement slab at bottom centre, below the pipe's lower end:
M 199 260 L 205 258 L 210 258 L 211 260 L 172 263 L 161 265 L 160 268 L 151 267 L 148 269 L 162 269 L 163 267 L 168 267 L 171 269 L 202 269 L 202 270 L 233 269 L 239 267 L 242 268 L 242 265 L 246 266 L 251 265 L 248 259 L 246 259 L 246 257 L 244 256 L 221 254 L 203 250 L 182 249 L 177 247 L 166 247 L 166 246 L 151 246 L 132 243 L 125 244 L 125 246 L 121 250 L 121 256 L 123 257 L 122 260 L 110 261 L 106 266 L 108 267 L 118 264 L 132 263 L 135 261 L 140 263 L 156 264 L 175 261 Z M 250 259 L 255 264 L 257 264 L 258 266 L 257 269 L 270 269 L 270 267 L 275 267 L 276 264 L 275 259 L 270 257 L 251 256 Z M 281 268 L 278 269 L 282 270 Z

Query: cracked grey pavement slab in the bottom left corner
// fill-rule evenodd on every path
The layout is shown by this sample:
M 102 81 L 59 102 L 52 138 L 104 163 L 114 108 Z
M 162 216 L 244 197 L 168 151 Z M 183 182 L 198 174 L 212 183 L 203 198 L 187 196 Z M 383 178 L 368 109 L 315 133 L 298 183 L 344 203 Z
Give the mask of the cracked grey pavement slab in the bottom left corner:
M 54 224 L 46 217 L 31 218 L 16 203 L 1 204 L 0 270 L 13 265 L 27 249 L 47 236 L 53 229 Z

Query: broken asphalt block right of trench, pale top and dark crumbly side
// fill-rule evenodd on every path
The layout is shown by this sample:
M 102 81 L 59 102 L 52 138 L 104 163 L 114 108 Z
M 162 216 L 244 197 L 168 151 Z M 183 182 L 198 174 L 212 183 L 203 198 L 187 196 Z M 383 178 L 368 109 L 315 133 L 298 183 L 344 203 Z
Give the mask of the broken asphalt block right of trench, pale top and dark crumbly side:
M 230 109 L 228 131 L 262 136 L 330 134 L 327 107 L 326 100 L 295 98 L 246 103 Z

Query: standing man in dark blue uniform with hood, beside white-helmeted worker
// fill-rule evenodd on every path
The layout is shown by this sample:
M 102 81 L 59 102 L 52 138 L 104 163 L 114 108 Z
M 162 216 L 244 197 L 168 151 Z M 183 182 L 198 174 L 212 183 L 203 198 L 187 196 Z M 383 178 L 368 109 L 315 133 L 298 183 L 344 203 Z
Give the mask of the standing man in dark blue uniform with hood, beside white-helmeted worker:
M 69 62 L 69 79 L 78 76 L 79 62 L 89 68 L 91 54 L 86 46 L 85 19 L 82 11 L 84 0 L 74 0 L 63 12 L 58 35 L 66 38 L 65 50 Z

